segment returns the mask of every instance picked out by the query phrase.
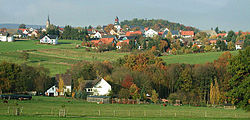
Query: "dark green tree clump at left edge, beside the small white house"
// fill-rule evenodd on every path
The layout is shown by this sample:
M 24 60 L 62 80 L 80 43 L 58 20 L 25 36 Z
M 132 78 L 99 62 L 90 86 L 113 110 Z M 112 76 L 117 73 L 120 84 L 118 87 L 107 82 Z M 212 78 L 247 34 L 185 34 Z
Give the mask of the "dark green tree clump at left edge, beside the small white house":
M 55 84 L 49 70 L 41 66 L 28 66 L 9 62 L 0 63 L 0 93 L 44 93 Z

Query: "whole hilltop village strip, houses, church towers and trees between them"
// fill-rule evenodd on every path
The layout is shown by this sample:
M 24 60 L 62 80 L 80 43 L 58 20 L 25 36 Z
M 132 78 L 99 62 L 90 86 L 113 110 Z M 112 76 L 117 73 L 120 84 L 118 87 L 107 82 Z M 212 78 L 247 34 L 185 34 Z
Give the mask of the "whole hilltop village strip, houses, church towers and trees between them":
M 157 50 L 171 54 L 178 54 L 180 51 L 192 53 L 239 50 L 249 44 L 246 40 L 250 32 L 226 32 L 220 31 L 218 27 L 211 30 L 198 30 L 183 25 L 175 27 L 176 29 L 170 27 L 171 29 L 161 23 L 155 24 L 152 28 L 140 25 L 128 26 L 124 23 L 121 25 L 118 17 L 115 18 L 114 24 L 104 26 L 59 27 L 51 24 L 48 17 L 46 28 L 26 28 L 25 24 L 21 24 L 18 29 L 1 28 L 0 41 L 39 39 L 41 44 L 58 44 L 59 39 L 76 39 L 83 41 L 81 46 L 100 48 L 100 51 L 112 49 L 131 51 L 131 47 L 143 50 L 156 46 Z M 185 50 L 183 47 L 188 47 L 190 50 Z

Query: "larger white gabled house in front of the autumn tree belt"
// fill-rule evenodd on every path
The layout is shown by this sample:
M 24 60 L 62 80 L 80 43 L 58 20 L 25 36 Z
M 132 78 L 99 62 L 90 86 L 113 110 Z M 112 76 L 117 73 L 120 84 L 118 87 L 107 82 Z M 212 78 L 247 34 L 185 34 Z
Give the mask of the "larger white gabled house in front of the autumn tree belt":
M 103 96 L 108 95 L 111 91 L 111 85 L 101 78 L 93 87 L 85 88 L 87 93 L 91 93 L 92 95 Z

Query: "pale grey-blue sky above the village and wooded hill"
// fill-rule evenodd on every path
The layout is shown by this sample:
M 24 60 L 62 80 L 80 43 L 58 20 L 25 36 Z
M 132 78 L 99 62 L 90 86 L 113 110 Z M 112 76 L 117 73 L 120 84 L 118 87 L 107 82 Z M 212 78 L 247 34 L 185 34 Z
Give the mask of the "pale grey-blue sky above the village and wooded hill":
M 250 31 L 250 0 L 0 0 L 0 24 L 97 26 L 164 19 L 201 30 Z

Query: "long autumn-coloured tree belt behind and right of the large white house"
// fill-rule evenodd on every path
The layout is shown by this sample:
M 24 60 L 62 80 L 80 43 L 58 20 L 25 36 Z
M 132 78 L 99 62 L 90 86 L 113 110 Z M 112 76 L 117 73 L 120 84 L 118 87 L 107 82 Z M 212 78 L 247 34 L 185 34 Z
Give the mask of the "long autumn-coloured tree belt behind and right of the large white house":
M 249 50 L 223 53 L 206 64 L 166 64 L 153 51 L 126 55 L 117 61 L 80 62 L 71 69 L 73 93 L 84 93 L 84 81 L 103 77 L 111 96 L 146 100 L 146 95 L 171 102 L 205 105 L 232 103 L 249 109 Z M 157 102 L 157 100 L 156 100 Z

